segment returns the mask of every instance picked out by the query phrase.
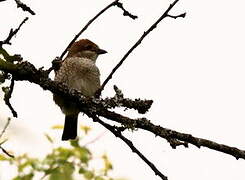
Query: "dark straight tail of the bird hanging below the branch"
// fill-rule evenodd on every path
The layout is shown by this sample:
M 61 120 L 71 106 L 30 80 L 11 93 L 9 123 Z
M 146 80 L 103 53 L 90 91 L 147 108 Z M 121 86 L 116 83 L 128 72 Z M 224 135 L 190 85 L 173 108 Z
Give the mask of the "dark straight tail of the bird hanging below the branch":
M 77 137 L 77 118 L 78 114 L 66 115 L 62 140 L 76 139 Z

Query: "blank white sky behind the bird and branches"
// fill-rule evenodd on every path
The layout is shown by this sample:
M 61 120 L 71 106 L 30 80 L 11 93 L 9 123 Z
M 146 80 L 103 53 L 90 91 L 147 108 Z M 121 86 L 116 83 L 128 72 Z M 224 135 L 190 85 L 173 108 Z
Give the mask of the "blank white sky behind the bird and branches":
M 9 52 L 20 53 L 36 67 L 48 68 L 87 21 L 111 1 L 24 2 L 37 15 L 21 28 L 13 45 L 5 47 Z M 137 20 L 122 16 L 122 11 L 114 7 L 82 35 L 81 38 L 88 38 L 109 52 L 97 61 L 102 80 L 169 3 L 125 1 L 124 7 L 138 15 Z M 30 15 L 16 9 L 12 1 L 0 5 L 0 39 L 4 39 L 10 28 Z M 154 124 L 245 149 L 244 5 L 242 0 L 180 0 L 171 14 L 187 12 L 187 17 L 162 21 L 117 71 L 104 96 L 112 96 L 112 85 L 116 84 L 126 97 L 154 100 L 146 115 Z M 47 152 L 50 146 L 43 133 L 52 133 L 50 127 L 62 124 L 64 119 L 52 102 L 51 93 L 34 84 L 18 82 L 12 102 L 19 118 L 11 122 L 6 147 L 15 153 Z M 8 114 L 1 104 L 1 119 Z M 138 117 L 132 111 L 128 115 Z M 95 129 L 84 143 L 105 131 L 85 116 L 81 119 Z M 61 131 L 58 133 L 60 138 Z M 193 146 L 172 150 L 165 140 L 144 131 L 126 134 L 170 180 L 245 179 L 244 160 Z M 108 152 L 116 176 L 160 179 L 109 132 L 91 149 L 96 153 Z M 0 169 L 0 179 L 4 174 L 8 170 Z

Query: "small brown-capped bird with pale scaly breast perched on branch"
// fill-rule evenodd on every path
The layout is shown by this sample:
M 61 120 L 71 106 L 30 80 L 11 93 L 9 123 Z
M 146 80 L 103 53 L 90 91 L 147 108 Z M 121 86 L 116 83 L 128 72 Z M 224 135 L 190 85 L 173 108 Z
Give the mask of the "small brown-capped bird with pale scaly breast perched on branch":
M 67 56 L 55 72 L 54 81 L 80 91 L 85 97 L 94 96 L 100 88 L 100 71 L 95 63 L 98 56 L 105 53 L 107 51 L 88 39 L 76 41 L 68 49 Z M 53 100 L 65 114 L 61 139 L 76 139 L 79 108 L 74 102 L 58 94 L 53 94 Z

